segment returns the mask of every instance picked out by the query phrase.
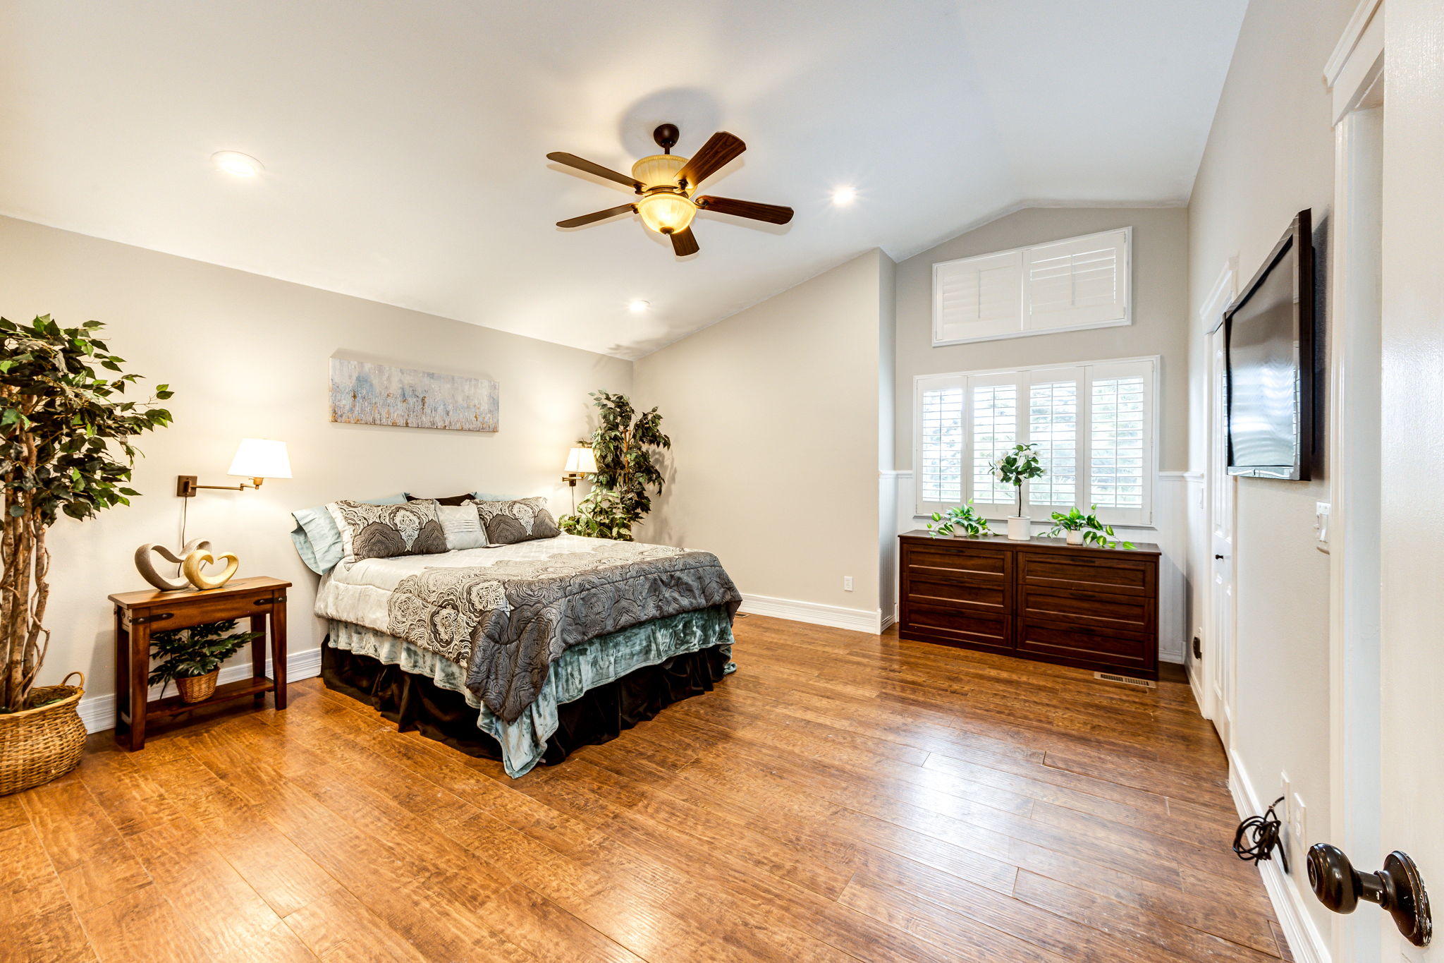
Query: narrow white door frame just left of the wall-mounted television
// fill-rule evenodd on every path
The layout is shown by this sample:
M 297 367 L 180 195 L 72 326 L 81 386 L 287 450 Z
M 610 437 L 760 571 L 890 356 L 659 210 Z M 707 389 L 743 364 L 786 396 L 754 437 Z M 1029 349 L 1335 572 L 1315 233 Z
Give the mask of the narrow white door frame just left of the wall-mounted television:
M 1225 368 L 1220 354 L 1223 344 L 1223 312 L 1238 296 L 1238 258 L 1230 257 L 1219 273 L 1203 308 L 1199 309 L 1200 347 L 1207 358 L 1206 417 L 1207 443 L 1204 487 L 1204 536 L 1203 569 L 1207 591 L 1204 592 L 1204 632 L 1201 686 L 1203 705 L 1200 710 L 1213 720 L 1225 749 L 1233 748 L 1235 718 L 1235 667 L 1238 666 L 1238 596 L 1225 586 L 1232 586 L 1233 546 L 1236 544 L 1235 491 L 1238 479 L 1227 471 L 1227 398 L 1225 397 Z M 1223 539 L 1219 539 L 1223 533 Z M 1226 543 L 1219 544 L 1220 541 Z M 1217 559 L 1217 554 L 1226 554 Z M 1220 580 L 1220 576 L 1225 580 Z

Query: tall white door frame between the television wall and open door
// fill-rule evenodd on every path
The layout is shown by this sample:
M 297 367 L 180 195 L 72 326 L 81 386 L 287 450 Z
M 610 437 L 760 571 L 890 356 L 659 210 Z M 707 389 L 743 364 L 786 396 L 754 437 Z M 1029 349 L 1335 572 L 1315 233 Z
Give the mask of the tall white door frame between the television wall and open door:
M 1383 3 L 1363 0 L 1324 69 L 1334 110 L 1328 332 L 1328 842 L 1382 865 L 1380 368 Z M 1321 829 L 1321 827 L 1320 827 Z M 1315 830 L 1317 832 L 1317 830 Z M 1324 842 L 1305 840 L 1305 845 Z M 1379 960 L 1382 914 L 1333 917 L 1336 959 Z

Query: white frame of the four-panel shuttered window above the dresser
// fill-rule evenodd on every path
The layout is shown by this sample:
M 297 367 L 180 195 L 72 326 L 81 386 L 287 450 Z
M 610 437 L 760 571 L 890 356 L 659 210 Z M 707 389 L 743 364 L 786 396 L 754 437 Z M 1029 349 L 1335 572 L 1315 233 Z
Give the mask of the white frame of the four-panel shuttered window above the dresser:
M 1154 491 L 1158 485 L 1158 377 L 1161 368 L 1160 355 L 1139 355 L 1134 358 L 1106 358 L 1102 361 L 1082 361 L 1069 364 L 1028 365 L 1014 368 L 988 368 L 980 371 L 950 371 L 943 374 L 918 374 L 913 377 L 913 462 L 914 462 L 914 504 L 918 517 L 930 517 L 934 511 L 944 511 L 952 502 L 924 501 L 923 498 L 923 391 L 939 385 L 962 387 L 963 390 L 963 450 L 962 450 L 962 502 L 966 504 L 973 497 L 972 476 L 972 416 L 973 416 L 973 384 L 998 384 L 1012 378 L 1019 388 L 1018 393 L 1018 423 L 1017 437 L 1019 443 L 1027 443 L 1031 437 L 1031 423 L 1028 419 L 1028 398 L 1034 383 L 1048 378 L 1048 372 L 1076 371 L 1079 372 L 1079 422 L 1077 422 L 1077 469 L 1074 478 L 1074 504 L 1087 510 L 1092 504 L 1092 397 L 1095 378 L 1110 378 L 1118 374 L 1134 374 L 1141 364 L 1148 365 L 1144 377 L 1147 393 L 1144 403 L 1144 492 L 1139 508 L 1100 508 L 1099 520 L 1128 528 L 1154 527 Z M 1086 443 L 1084 443 L 1086 442 Z M 1054 511 L 1064 511 L 1066 505 L 1034 504 L 1028 482 L 1024 482 L 1024 504 L 1034 521 L 1047 521 Z M 986 518 L 1006 518 L 1014 513 L 1011 504 L 979 504 L 975 505 L 979 514 Z

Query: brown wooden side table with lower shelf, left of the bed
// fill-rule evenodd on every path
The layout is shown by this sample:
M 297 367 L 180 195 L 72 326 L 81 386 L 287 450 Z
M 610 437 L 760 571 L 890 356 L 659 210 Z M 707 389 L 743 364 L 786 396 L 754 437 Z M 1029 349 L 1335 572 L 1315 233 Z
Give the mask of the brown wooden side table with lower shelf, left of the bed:
M 276 707 L 286 707 L 286 589 L 290 582 L 257 576 L 234 579 L 219 589 L 204 592 L 121 592 L 116 603 L 116 742 L 136 751 L 146 746 L 146 719 L 169 719 L 191 709 L 217 702 L 256 697 L 266 703 L 274 692 Z M 206 622 L 250 619 L 251 631 L 261 638 L 251 642 L 251 677 L 217 686 L 215 694 L 202 702 L 183 702 L 179 694 L 150 697 L 150 632 L 191 628 Z M 273 677 L 266 676 L 264 635 L 270 625 Z

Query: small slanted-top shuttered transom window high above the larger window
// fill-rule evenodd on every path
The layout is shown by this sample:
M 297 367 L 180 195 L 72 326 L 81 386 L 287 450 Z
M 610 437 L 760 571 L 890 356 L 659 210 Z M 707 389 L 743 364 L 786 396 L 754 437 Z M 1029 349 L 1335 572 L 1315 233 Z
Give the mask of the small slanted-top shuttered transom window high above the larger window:
M 1132 323 L 1132 228 L 933 266 L 933 344 Z

